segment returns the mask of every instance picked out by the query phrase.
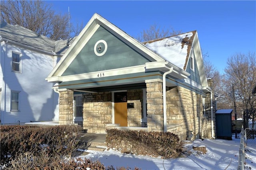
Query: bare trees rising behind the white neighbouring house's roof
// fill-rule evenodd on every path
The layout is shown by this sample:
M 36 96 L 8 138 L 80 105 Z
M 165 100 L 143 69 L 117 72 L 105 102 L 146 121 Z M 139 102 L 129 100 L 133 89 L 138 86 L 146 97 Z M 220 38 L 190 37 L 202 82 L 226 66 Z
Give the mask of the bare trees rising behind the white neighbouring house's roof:
M 2 21 L 18 24 L 53 40 L 67 39 L 77 34 L 70 34 L 72 29 L 69 26 L 68 14 L 55 14 L 52 5 L 44 1 L 1 1 L 0 9 Z

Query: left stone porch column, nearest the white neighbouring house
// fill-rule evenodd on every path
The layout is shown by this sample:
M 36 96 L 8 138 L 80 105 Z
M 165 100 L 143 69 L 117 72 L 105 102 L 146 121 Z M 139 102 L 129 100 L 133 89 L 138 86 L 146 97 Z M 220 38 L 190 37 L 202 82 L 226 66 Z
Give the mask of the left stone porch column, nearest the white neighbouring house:
M 69 89 L 59 89 L 59 125 L 73 124 L 74 93 Z

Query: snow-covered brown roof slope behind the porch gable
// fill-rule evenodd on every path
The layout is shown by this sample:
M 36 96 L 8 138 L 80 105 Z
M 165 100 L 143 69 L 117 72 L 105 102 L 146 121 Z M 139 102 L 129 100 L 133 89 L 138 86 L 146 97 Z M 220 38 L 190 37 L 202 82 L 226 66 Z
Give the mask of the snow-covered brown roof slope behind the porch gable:
M 166 61 L 186 69 L 186 63 L 196 31 L 144 42 L 146 47 L 162 56 Z

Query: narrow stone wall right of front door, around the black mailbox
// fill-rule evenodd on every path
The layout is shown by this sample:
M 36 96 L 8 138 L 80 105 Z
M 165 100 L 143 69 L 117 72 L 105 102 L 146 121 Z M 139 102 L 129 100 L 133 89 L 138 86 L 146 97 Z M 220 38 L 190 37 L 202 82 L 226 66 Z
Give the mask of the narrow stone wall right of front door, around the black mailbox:
M 143 92 L 142 89 L 127 90 L 127 103 L 134 103 L 134 108 L 127 109 L 128 127 L 142 127 Z

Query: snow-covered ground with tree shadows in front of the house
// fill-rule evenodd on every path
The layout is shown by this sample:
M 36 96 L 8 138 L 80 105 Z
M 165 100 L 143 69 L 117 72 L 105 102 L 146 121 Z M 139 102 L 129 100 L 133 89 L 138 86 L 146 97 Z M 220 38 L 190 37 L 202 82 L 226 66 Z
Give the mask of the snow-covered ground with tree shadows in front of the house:
M 187 150 L 191 154 L 183 158 L 161 159 L 148 156 L 136 156 L 132 154 L 122 154 L 114 150 L 104 152 L 86 150 L 90 152 L 81 158 L 90 158 L 93 161 L 99 160 L 106 167 L 113 165 L 116 167 L 141 168 L 142 170 L 236 170 L 238 168 L 238 151 L 240 139 L 205 139 L 194 140 L 192 144 L 186 144 Z M 193 145 L 206 146 L 206 154 L 198 154 L 192 149 Z M 246 168 L 256 170 L 256 147 L 246 148 Z

